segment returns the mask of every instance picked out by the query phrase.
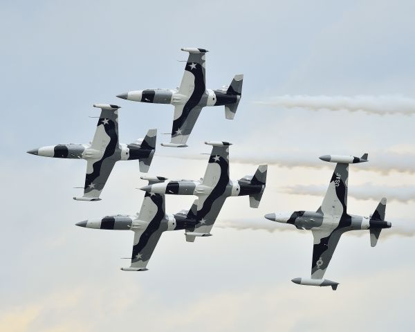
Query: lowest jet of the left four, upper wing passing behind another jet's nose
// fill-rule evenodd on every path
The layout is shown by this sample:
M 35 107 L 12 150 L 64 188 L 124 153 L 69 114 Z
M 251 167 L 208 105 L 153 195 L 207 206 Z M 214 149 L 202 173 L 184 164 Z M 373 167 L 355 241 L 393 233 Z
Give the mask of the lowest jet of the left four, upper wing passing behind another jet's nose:
M 164 181 L 162 177 L 143 176 L 149 185 Z M 77 226 L 98 230 L 132 230 L 134 232 L 131 266 L 121 268 L 124 271 L 145 271 L 149 259 L 157 246 L 163 232 L 184 230 L 199 223 L 196 220 L 196 204 L 189 211 L 182 210 L 176 214 L 165 213 L 165 195 L 145 193 L 140 213 L 136 216 L 116 214 L 101 219 L 89 219 L 77 223 Z

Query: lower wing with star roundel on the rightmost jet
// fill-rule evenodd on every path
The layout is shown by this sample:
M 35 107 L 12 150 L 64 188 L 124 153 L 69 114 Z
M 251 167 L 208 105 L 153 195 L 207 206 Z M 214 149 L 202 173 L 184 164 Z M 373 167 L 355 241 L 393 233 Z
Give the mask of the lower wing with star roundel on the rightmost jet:
M 335 229 L 332 232 L 313 230 L 313 261 L 311 263 L 311 279 L 323 279 L 327 266 L 329 266 L 334 250 L 338 245 L 343 230 Z

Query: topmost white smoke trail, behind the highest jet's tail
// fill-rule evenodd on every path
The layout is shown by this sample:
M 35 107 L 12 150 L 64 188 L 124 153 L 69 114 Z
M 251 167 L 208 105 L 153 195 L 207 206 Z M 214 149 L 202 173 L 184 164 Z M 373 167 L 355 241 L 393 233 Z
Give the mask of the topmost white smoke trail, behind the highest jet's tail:
M 356 95 L 354 97 L 326 95 L 282 95 L 269 102 L 258 102 L 282 107 L 299 107 L 313 111 L 330 110 L 351 112 L 363 111 L 371 114 L 415 114 L 415 100 L 402 95 Z

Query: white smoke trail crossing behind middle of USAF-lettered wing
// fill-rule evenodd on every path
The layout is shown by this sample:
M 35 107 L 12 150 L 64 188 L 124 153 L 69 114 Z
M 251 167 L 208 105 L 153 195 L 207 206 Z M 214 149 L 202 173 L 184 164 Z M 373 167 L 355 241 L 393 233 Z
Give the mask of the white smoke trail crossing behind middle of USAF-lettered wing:
M 279 191 L 285 194 L 299 194 L 311 196 L 324 196 L 327 185 L 293 185 L 290 187 L 282 187 Z M 398 201 L 401 203 L 409 203 L 415 200 L 415 186 L 389 187 L 385 185 L 372 185 L 365 183 L 364 185 L 353 186 L 349 189 L 349 196 L 362 200 L 378 200 L 380 197 L 387 197 L 388 201 Z

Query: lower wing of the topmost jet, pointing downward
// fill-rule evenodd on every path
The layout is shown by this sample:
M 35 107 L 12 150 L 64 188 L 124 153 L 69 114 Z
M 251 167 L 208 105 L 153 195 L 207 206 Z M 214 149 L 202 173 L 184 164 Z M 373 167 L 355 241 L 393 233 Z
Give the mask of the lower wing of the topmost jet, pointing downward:
M 174 107 L 171 143 L 186 144 L 202 110 L 202 107 L 197 106 L 199 100 L 187 100 L 185 104 L 178 104 Z

